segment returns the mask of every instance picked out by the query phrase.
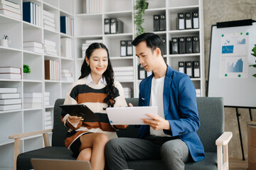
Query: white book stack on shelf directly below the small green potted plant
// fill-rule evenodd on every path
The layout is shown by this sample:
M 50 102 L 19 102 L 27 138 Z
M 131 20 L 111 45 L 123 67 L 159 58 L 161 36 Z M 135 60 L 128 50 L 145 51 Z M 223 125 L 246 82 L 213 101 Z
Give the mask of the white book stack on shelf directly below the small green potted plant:
M 23 94 L 23 108 L 41 108 L 42 107 L 42 93 L 24 93 Z

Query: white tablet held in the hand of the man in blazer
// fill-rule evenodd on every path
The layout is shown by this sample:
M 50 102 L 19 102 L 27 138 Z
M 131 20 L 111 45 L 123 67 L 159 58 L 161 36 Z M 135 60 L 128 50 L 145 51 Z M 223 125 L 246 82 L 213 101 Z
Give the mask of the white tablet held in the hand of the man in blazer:
M 146 125 L 142 118 L 149 118 L 146 113 L 157 116 L 157 106 L 107 108 L 111 125 Z

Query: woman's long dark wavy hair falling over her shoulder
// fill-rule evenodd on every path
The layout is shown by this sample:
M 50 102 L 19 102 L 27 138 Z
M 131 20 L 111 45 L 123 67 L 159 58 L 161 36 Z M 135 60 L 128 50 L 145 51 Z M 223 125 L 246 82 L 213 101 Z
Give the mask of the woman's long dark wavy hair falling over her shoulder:
M 102 44 L 102 43 L 92 43 L 86 50 L 85 52 L 85 57 L 87 57 L 88 60 L 90 60 L 90 57 L 92 55 L 92 52 L 94 52 L 96 49 L 99 48 L 103 48 L 107 51 L 107 69 L 106 71 L 103 73 L 103 77 L 106 79 L 107 81 L 107 86 L 106 86 L 106 94 L 107 97 L 104 99 L 104 102 L 107 103 L 107 107 L 113 107 L 114 106 L 114 71 L 112 68 L 112 64 L 110 62 L 110 54 L 107 50 L 107 47 Z M 81 76 L 79 77 L 79 79 L 82 79 L 84 77 L 87 77 L 91 72 L 90 69 L 90 65 L 87 65 L 86 60 L 84 60 L 84 62 L 82 63 L 82 67 L 81 67 Z

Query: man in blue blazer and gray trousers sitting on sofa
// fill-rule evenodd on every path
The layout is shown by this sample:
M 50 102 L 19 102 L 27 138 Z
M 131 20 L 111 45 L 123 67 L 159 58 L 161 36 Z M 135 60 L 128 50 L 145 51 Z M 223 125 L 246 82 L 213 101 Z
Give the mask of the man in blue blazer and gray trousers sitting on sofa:
M 152 71 L 139 84 L 139 106 L 157 106 L 158 116 L 147 114 L 139 139 L 110 140 L 105 147 L 107 166 L 110 170 L 129 169 L 127 160 L 162 159 L 164 169 L 185 169 L 185 162 L 204 158 L 196 133 L 200 125 L 196 90 L 188 75 L 166 65 L 159 35 L 144 33 L 132 45 L 139 63 Z

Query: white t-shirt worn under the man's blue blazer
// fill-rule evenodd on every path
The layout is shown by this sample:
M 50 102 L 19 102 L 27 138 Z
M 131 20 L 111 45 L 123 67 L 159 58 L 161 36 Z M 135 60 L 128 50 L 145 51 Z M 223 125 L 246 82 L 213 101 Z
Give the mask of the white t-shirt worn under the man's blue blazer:
M 153 77 L 151 83 L 150 106 L 157 106 L 157 114 L 164 118 L 164 77 L 155 79 Z M 150 127 L 150 135 L 170 137 L 166 135 L 164 130 L 154 130 Z

